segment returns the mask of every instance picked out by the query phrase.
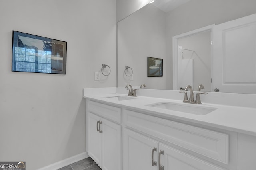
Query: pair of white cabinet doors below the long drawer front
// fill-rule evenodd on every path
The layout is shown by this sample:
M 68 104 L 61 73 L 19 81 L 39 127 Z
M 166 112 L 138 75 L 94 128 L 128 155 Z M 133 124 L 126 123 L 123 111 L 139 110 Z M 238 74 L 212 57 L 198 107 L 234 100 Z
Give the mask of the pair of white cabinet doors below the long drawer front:
M 156 148 L 155 151 L 152 150 L 154 148 Z M 156 162 L 154 166 L 152 166 L 153 162 Z M 190 154 L 186 154 L 180 150 L 176 150 L 168 145 L 159 143 L 158 141 L 124 128 L 123 170 L 225 169 L 214 166 L 213 164 L 200 160 Z

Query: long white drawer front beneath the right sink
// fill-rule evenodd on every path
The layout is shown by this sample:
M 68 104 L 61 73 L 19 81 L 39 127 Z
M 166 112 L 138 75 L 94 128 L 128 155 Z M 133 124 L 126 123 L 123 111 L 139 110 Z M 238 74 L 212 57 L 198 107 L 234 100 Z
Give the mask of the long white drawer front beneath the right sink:
M 142 113 L 124 110 L 126 126 L 228 164 L 228 135 Z

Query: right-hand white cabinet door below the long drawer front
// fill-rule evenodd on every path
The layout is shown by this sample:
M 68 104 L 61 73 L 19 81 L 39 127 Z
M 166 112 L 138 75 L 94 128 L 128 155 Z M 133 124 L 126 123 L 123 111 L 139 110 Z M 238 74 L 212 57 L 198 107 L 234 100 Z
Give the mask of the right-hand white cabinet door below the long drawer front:
M 159 151 L 162 153 L 159 170 L 224 170 L 162 143 Z

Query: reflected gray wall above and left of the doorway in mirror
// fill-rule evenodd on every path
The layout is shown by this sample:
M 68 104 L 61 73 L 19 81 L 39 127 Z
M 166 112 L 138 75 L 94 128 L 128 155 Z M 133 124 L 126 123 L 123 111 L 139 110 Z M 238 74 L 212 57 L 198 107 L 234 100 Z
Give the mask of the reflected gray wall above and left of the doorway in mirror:
M 255 0 L 191 0 L 167 13 L 167 62 L 172 66 L 172 37 L 212 24 L 256 13 Z M 172 89 L 172 67 L 167 67 L 167 89 Z

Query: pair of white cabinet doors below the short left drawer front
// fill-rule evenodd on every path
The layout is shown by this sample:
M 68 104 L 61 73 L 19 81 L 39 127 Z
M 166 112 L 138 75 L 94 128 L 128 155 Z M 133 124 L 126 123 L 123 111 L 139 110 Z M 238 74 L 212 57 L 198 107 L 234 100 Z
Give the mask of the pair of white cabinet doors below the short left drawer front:
M 86 115 L 86 151 L 102 170 L 121 170 L 121 125 L 88 112 Z

